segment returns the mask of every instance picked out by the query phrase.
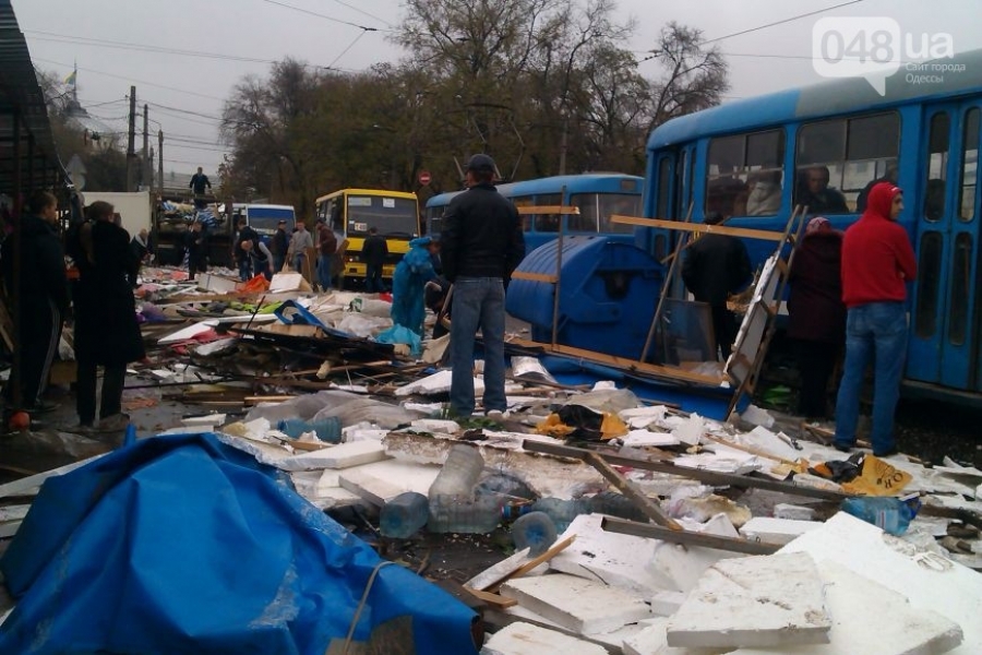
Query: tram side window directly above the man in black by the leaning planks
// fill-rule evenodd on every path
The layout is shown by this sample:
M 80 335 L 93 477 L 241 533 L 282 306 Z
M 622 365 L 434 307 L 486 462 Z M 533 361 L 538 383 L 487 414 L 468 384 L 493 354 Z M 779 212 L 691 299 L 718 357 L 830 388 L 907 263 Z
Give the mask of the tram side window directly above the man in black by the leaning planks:
M 785 132 L 770 130 L 709 142 L 706 213 L 776 214 L 780 209 Z

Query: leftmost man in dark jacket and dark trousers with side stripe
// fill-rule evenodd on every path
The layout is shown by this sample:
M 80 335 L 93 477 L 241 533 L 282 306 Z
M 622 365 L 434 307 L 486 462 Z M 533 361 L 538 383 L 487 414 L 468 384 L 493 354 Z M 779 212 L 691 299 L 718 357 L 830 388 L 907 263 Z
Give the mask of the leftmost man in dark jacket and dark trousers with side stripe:
M 20 295 L 11 309 L 20 321 L 20 366 L 4 389 L 8 405 L 20 401 L 28 413 L 45 412 L 40 395 L 48 382 L 51 361 L 61 337 L 62 319 L 69 309 L 64 252 L 58 237 L 58 201 L 47 191 L 36 191 L 27 201 L 27 212 L 20 225 L 21 261 L 14 270 L 14 238 L 3 241 L 0 260 L 8 298 Z M 15 393 L 13 381 L 19 382 Z M 20 398 L 16 397 L 20 395 Z

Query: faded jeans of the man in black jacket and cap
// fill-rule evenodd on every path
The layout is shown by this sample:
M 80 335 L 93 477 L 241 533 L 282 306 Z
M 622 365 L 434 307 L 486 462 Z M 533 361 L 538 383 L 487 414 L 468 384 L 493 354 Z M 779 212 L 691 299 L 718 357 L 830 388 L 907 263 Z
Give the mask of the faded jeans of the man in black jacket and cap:
M 504 393 L 504 285 L 500 277 L 460 277 L 451 310 L 451 412 L 474 414 L 474 341 L 484 341 L 484 410 L 508 408 Z

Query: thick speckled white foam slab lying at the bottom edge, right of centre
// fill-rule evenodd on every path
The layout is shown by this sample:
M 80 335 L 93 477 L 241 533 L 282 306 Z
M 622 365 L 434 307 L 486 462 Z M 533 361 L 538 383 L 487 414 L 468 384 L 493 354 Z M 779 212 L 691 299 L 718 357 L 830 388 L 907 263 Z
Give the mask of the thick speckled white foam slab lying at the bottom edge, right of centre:
M 712 564 L 666 627 L 671 646 L 828 643 L 831 619 L 818 569 L 804 552 Z

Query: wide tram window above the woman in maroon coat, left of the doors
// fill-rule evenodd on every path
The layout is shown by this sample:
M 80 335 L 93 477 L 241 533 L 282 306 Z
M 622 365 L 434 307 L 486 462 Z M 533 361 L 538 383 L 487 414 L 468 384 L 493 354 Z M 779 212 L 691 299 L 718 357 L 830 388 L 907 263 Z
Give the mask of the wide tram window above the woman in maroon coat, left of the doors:
M 896 181 L 899 146 L 896 112 L 803 126 L 798 132 L 794 202 L 811 213 L 862 212 L 875 182 Z

